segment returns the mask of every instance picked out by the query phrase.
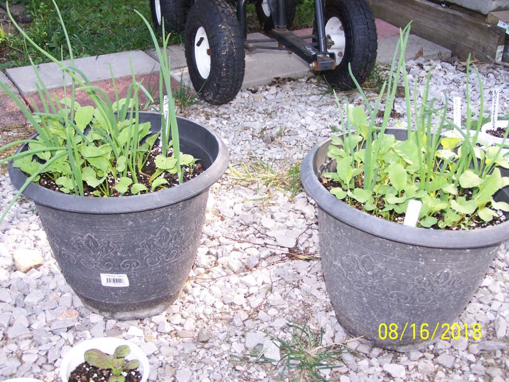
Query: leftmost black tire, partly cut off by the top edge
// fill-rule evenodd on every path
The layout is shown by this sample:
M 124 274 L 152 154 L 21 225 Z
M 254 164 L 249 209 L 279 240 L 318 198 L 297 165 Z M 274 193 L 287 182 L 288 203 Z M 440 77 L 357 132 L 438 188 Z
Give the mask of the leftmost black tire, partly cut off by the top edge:
M 150 0 L 152 22 L 157 31 L 162 32 L 161 19 L 164 20 L 164 33 L 184 32 L 189 9 L 188 0 L 159 0 L 161 18 L 157 17 L 155 0 Z

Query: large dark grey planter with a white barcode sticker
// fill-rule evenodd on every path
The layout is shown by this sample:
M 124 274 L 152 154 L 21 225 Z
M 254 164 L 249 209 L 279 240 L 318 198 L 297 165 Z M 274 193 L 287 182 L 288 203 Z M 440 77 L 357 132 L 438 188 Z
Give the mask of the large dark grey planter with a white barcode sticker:
M 23 193 L 35 202 L 67 282 L 85 306 L 105 317 L 161 313 L 178 298 L 191 270 L 209 188 L 226 170 L 229 154 L 212 131 L 177 120 L 181 151 L 200 158 L 206 169 L 184 184 L 121 198 L 66 195 L 35 183 Z M 155 113 L 142 113 L 140 121 L 150 121 L 153 132 L 161 126 Z M 9 175 L 17 188 L 26 180 L 12 163 Z

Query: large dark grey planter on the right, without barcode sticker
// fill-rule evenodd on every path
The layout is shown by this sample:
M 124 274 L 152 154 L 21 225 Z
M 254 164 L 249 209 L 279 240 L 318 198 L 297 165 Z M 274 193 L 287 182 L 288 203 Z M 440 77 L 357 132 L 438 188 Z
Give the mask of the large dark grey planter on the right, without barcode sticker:
M 386 133 L 406 137 L 402 129 Z M 509 222 L 441 231 L 407 227 L 359 211 L 337 200 L 319 181 L 324 172 L 335 171 L 327 157 L 329 145 L 330 140 L 309 151 L 301 178 L 318 204 L 322 268 L 337 320 L 352 337 L 364 336 L 373 346 L 424 348 L 456 322 L 500 244 L 509 238 Z M 506 190 L 496 199 L 507 202 Z M 390 333 L 390 324 L 398 325 L 395 332 Z M 472 327 L 467 326 L 470 339 Z M 458 325 L 454 329 L 457 336 Z M 465 337 L 465 326 L 460 329 Z M 444 335 L 451 337 L 451 331 Z

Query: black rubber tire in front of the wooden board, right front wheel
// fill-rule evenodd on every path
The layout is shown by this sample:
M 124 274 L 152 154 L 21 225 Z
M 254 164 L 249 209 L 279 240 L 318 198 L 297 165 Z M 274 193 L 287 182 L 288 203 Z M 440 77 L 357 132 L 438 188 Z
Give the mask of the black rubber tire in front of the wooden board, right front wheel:
M 334 70 L 324 70 L 320 74 L 336 89 L 353 89 L 356 86 L 348 71 L 348 64 L 355 79 L 362 84 L 377 60 L 375 17 L 364 0 L 325 0 L 324 16 L 326 25 L 332 17 L 337 17 L 343 24 L 345 50 L 343 59 Z M 316 24 L 313 34 L 318 36 Z

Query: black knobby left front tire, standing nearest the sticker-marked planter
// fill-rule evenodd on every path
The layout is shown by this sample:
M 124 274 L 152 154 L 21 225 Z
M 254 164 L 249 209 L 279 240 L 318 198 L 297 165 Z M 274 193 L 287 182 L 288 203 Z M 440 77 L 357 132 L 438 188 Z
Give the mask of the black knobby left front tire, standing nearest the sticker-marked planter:
M 196 63 L 195 46 L 200 49 L 203 43 L 195 41 L 199 31 L 205 32 L 209 43 L 210 71 L 204 76 Z M 245 70 L 244 42 L 234 10 L 223 0 L 198 0 L 187 17 L 184 46 L 189 77 L 200 96 L 215 105 L 234 99 Z M 198 54 L 203 60 L 203 54 Z

